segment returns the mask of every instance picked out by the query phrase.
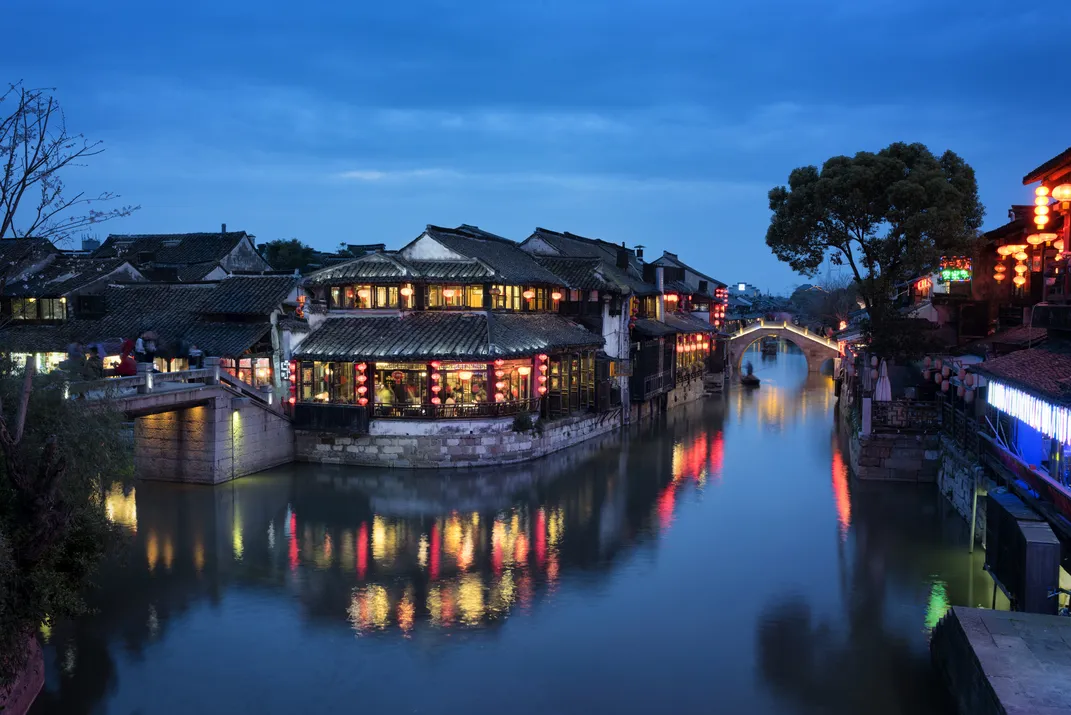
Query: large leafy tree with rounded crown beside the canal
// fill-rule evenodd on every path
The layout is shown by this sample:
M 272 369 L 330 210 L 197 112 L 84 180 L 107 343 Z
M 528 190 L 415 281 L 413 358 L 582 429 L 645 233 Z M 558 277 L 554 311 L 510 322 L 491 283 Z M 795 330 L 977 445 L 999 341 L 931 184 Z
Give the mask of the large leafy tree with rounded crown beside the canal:
M 769 198 L 767 245 L 803 275 L 815 275 L 827 258 L 847 265 L 879 351 L 902 345 L 896 287 L 934 271 L 942 256 L 971 255 L 985 214 L 974 169 L 921 143 L 834 156 L 820 171 L 794 169 Z

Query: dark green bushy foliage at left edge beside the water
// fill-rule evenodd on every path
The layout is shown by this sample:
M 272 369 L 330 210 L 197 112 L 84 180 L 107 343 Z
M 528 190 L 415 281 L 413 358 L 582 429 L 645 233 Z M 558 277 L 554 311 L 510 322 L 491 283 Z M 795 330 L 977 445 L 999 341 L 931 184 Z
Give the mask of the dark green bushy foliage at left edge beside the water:
M 0 461 L 0 685 L 21 667 L 27 634 L 85 610 L 81 593 L 118 537 L 102 496 L 130 469 L 122 416 L 101 400 L 65 399 L 63 378 L 34 379 L 26 431 Z M 2 370 L 9 429 L 21 386 Z

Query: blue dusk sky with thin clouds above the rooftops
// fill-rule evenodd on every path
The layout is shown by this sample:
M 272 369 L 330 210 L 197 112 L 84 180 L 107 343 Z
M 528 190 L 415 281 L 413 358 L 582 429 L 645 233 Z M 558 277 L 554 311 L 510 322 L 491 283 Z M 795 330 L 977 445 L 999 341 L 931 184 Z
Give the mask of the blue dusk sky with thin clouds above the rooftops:
M 952 149 L 986 227 L 1071 144 L 1071 11 L 1010 0 L 7 0 L 6 80 L 56 87 L 107 151 L 69 184 L 107 232 L 243 229 L 399 247 L 536 226 L 804 282 L 765 244 L 797 166 Z M 26 28 L 22 31 L 20 28 Z

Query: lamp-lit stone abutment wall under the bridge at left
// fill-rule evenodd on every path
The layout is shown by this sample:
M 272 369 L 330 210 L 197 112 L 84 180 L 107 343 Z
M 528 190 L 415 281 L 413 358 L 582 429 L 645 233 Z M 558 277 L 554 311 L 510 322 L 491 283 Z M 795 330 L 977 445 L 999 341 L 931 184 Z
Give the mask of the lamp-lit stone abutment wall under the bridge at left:
M 135 419 L 135 474 L 220 484 L 293 461 L 289 420 L 256 402 L 236 410 L 229 393 L 223 395 L 205 405 Z

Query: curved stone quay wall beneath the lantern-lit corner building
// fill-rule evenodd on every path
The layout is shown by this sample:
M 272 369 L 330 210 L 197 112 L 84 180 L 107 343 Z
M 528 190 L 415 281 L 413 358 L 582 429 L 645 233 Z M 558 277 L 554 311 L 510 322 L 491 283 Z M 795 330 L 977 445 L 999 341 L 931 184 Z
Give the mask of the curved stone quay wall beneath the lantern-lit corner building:
M 450 424 L 376 420 L 369 435 L 295 431 L 295 458 L 337 465 L 441 469 L 509 465 L 558 452 L 621 427 L 621 410 L 543 422 L 513 431 L 513 419 Z M 434 432 L 433 432 L 434 429 Z

